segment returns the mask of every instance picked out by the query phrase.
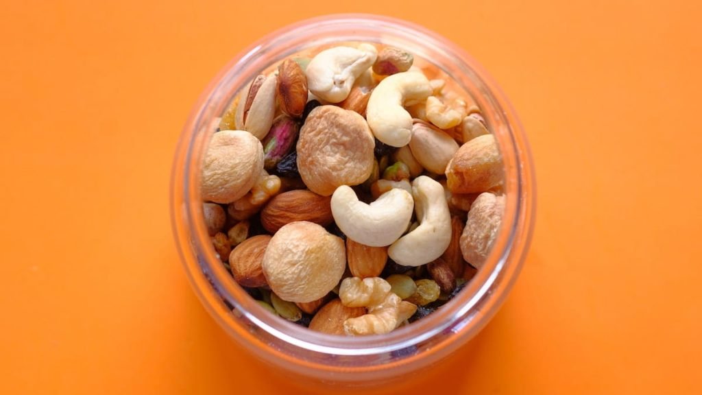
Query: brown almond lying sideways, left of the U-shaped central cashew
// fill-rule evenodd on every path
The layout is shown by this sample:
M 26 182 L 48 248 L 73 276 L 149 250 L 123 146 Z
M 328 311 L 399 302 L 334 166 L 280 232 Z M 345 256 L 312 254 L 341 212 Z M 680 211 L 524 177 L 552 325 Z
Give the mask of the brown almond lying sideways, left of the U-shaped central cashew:
M 310 190 L 290 190 L 273 197 L 261 211 L 261 225 L 266 231 L 278 229 L 295 221 L 310 221 L 326 226 L 331 224 L 331 197 L 320 196 Z

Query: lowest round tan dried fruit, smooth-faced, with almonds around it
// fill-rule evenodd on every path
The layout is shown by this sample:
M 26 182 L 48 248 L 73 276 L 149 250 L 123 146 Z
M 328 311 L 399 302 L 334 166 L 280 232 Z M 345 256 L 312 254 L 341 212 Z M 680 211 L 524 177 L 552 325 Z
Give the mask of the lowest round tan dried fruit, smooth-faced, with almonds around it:
M 341 280 L 346 249 L 341 238 L 307 221 L 287 224 L 273 235 L 263 255 L 268 286 L 289 302 L 324 297 Z

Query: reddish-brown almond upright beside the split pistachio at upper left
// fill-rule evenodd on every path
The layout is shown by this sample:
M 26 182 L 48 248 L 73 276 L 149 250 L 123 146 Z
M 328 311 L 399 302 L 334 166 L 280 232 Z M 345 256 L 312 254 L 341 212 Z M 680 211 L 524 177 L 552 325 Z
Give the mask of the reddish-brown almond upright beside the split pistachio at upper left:
M 278 96 L 282 110 L 300 117 L 307 104 L 307 77 L 300 65 L 286 59 L 278 66 Z

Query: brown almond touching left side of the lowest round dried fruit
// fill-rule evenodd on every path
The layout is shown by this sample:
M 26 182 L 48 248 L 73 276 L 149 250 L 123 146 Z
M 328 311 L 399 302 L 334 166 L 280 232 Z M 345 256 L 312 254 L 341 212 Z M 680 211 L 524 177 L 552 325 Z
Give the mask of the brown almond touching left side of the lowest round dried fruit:
M 244 287 L 262 287 L 266 285 L 261 262 L 270 242 L 269 235 L 257 235 L 237 245 L 229 255 L 234 280 Z

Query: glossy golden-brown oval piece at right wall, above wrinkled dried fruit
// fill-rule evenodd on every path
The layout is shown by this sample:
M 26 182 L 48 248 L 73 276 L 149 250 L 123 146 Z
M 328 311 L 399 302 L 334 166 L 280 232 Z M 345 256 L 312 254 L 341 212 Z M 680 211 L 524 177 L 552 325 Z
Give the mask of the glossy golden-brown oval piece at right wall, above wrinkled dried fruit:
M 502 157 L 491 134 L 461 145 L 446 166 L 446 185 L 452 193 L 485 192 L 502 182 Z

